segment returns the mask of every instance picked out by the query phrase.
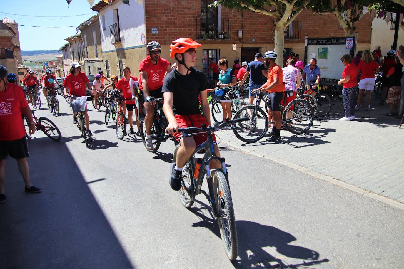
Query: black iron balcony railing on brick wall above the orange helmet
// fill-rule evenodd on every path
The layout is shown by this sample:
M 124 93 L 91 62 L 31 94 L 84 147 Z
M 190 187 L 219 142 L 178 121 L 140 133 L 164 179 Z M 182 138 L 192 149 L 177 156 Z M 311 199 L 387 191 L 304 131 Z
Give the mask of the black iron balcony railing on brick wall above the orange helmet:
M 196 39 L 230 39 L 230 19 L 206 19 L 196 17 Z

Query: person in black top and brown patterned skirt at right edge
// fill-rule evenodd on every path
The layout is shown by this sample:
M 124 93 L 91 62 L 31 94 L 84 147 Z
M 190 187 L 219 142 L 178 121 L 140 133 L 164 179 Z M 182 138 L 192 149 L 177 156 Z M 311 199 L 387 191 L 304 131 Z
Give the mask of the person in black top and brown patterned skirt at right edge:
M 400 104 L 403 65 L 400 63 L 399 59 L 396 59 L 396 62 L 396 65 L 391 67 L 389 73 L 387 74 L 387 78 L 389 79 L 389 92 L 387 94 L 386 103 L 390 105 L 390 112 L 387 113 L 387 116 L 396 116 L 397 108 Z

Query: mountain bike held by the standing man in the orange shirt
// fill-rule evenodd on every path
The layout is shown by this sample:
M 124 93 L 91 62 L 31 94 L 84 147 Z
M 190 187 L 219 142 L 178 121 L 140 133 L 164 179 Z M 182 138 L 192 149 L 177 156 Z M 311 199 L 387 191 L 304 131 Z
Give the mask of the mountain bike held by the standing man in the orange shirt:
M 292 91 L 285 91 L 285 94 Z M 251 93 L 257 94 L 255 105 L 243 106 L 234 115 L 235 119 L 241 117 L 249 117 L 246 123 L 239 123 L 236 129 L 233 129 L 234 134 L 238 139 L 246 143 L 258 142 L 265 136 L 268 130 L 269 120 L 267 113 L 259 106 L 261 100 L 264 105 L 271 110 L 269 106 L 268 96 L 264 96 L 258 90 L 252 90 Z M 309 102 L 304 99 L 295 99 L 286 103 L 284 98 L 281 104 L 281 119 L 285 128 L 294 134 L 302 134 L 307 132 L 314 121 L 314 109 Z M 271 122 L 275 124 L 275 122 Z

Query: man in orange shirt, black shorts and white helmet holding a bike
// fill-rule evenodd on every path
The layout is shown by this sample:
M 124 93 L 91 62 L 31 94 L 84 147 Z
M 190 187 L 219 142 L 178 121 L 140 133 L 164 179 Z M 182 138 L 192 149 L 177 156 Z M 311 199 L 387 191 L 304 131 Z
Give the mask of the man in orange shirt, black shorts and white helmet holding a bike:
M 269 67 L 268 80 L 258 90 L 261 92 L 268 92 L 268 97 L 271 99 L 271 109 L 268 111 L 268 117 L 272 116 L 275 120 L 275 126 L 272 125 L 272 136 L 267 141 L 279 141 L 280 140 L 280 128 L 282 120 L 280 117 L 281 102 L 284 98 L 285 85 L 283 84 L 283 71 L 282 68 L 275 63 L 278 55 L 274 51 L 267 51 L 263 56 L 265 59 L 265 65 Z M 270 113 L 270 115 L 269 115 Z

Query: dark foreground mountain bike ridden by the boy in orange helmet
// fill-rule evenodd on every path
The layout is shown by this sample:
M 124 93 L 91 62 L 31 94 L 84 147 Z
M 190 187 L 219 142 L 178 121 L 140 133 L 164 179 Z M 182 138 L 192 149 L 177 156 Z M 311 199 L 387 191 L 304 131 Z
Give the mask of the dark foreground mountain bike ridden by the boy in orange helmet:
M 234 216 L 233 202 L 231 200 L 229 174 L 227 173 L 225 159 L 216 156 L 212 134 L 226 126 L 228 128 L 228 125 L 231 125 L 231 129 L 235 129 L 236 123 L 248 119 L 248 117 L 244 117 L 226 121 L 221 124 L 214 123 L 213 126 L 208 127 L 202 124 L 200 128 L 189 127 L 178 129 L 179 132 L 182 131 L 182 137 L 189 137 L 195 133 L 206 134 L 206 141 L 195 148 L 194 153 L 192 153 L 182 169 L 181 189 L 178 191 L 179 199 L 183 206 L 189 209 L 194 204 L 195 196 L 201 193 L 204 194 L 209 201 L 212 215 L 217 218 L 223 246 L 230 261 L 234 261 L 238 255 L 236 218 Z M 180 146 L 177 145 L 174 148 L 173 163 L 177 160 L 179 147 Z M 204 157 L 196 159 L 194 155 L 201 151 L 205 151 Z M 221 168 L 210 169 L 210 161 L 214 160 L 221 163 Z M 198 175 L 194 173 L 196 163 L 200 165 Z M 209 194 L 201 190 L 205 176 Z

